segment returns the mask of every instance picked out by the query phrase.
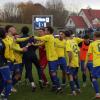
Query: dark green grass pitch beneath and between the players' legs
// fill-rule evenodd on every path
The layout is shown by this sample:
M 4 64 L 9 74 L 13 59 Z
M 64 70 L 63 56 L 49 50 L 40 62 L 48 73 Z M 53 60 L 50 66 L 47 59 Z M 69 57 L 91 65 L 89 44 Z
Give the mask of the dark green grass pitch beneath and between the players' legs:
M 50 79 L 48 74 L 48 68 L 46 69 L 46 76 L 48 79 Z M 61 76 L 60 71 L 59 71 L 59 76 Z M 63 94 L 56 94 L 55 92 L 51 92 L 50 87 L 41 90 L 38 86 L 38 76 L 35 67 L 33 67 L 33 77 L 37 84 L 36 92 L 32 93 L 30 85 L 25 85 L 25 84 L 17 85 L 16 88 L 18 89 L 18 92 L 12 93 L 10 96 L 10 100 L 92 100 L 95 95 L 89 79 L 87 79 L 87 86 L 85 88 L 82 87 L 80 73 L 79 77 L 81 84 L 81 94 L 77 96 L 69 95 L 70 94 L 69 86 L 66 86 L 64 88 Z M 24 80 L 24 73 L 22 80 Z

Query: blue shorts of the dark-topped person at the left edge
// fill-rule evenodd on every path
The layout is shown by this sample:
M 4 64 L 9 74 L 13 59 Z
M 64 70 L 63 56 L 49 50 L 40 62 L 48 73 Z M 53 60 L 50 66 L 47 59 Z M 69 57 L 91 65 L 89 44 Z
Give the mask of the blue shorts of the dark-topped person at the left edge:
M 4 81 L 11 80 L 11 72 L 9 66 L 4 66 L 0 68 L 0 73 Z

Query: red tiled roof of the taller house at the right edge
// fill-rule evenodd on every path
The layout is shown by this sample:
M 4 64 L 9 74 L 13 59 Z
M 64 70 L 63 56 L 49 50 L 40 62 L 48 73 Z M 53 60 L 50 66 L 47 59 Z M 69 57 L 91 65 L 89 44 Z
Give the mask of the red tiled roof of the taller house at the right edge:
M 82 9 L 81 11 L 85 13 L 86 17 L 88 18 L 91 24 L 92 20 L 94 20 L 95 18 L 100 19 L 100 10 Z

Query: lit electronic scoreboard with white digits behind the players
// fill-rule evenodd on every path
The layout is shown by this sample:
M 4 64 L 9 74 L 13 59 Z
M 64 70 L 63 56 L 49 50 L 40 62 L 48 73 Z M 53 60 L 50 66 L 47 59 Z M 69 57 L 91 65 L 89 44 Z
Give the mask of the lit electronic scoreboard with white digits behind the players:
M 32 18 L 32 28 L 33 30 L 38 30 L 47 26 L 53 26 L 52 15 L 35 15 Z

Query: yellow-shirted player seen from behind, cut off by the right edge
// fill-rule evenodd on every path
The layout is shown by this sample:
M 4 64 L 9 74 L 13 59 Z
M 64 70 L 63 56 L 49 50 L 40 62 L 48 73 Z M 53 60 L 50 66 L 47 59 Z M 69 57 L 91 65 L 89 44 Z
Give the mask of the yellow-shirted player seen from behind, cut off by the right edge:
M 88 63 L 89 57 L 93 54 L 93 70 L 92 70 L 92 83 L 96 92 L 96 98 L 100 98 L 99 86 L 97 79 L 100 78 L 100 32 L 94 33 L 95 41 L 89 46 L 89 50 L 86 57 L 85 69 Z

